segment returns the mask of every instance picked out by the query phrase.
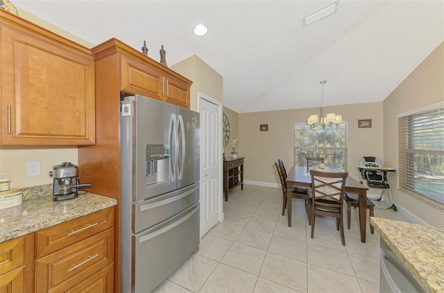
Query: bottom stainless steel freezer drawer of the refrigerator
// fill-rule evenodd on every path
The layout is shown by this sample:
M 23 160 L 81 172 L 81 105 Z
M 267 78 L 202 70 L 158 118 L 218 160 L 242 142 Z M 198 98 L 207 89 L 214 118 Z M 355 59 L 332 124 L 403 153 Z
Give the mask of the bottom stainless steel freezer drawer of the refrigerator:
M 199 204 L 133 236 L 132 292 L 151 292 L 199 245 Z

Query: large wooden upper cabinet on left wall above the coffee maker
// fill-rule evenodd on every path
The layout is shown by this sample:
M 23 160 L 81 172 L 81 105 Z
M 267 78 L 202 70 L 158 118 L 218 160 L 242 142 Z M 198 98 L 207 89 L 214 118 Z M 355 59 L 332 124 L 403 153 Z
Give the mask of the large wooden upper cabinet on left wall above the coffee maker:
M 95 142 L 91 50 L 0 10 L 1 144 Z

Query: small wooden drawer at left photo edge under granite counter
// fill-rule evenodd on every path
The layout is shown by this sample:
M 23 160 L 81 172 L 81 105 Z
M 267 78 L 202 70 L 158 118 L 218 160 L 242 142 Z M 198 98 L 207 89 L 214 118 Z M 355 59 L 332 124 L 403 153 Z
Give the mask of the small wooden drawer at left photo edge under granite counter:
M 1 243 L 0 275 L 22 266 L 24 266 L 24 237 Z

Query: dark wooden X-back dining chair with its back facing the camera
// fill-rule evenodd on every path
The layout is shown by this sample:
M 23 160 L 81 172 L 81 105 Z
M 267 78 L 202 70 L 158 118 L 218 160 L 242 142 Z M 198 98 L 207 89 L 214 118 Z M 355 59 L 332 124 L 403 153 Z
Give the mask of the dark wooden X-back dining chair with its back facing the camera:
M 314 237 L 316 215 L 336 218 L 336 229 L 341 231 L 341 242 L 345 246 L 343 226 L 343 201 L 345 179 L 348 172 L 325 172 L 310 170 L 311 175 L 311 238 Z

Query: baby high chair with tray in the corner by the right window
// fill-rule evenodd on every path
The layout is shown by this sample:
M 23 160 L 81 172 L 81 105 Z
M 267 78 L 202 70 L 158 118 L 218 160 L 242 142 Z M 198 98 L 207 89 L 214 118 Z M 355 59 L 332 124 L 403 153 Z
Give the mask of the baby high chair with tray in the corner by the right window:
M 388 191 L 388 208 L 393 208 L 393 210 L 398 210 L 393 204 L 391 198 L 390 185 L 387 180 L 387 172 L 395 171 L 393 168 L 382 167 L 382 160 L 376 157 L 362 157 L 359 159 L 359 166 L 357 167 L 359 172 L 359 182 L 364 184 L 365 180 L 368 187 L 382 189 L 381 194 L 377 198 L 370 198 L 370 200 L 380 201 L 382 196 L 384 196 L 385 191 Z M 377 206 L 377 208 L 379 208 Z

